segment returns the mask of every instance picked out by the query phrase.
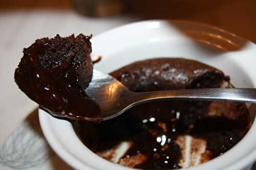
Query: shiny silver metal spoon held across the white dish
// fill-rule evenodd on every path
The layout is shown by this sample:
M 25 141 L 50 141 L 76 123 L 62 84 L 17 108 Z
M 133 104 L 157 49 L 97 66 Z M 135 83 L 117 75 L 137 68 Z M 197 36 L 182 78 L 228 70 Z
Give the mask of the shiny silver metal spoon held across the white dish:
M 236 101 L 256 103 L 255 88 L 205 88 L 150 92 L 133 92 L 121 82 L 101 71 L 93 70 L 93 79 L 86 93 L 100 107 L 100 118 L 84 117 L 89 121 L 108 120 L 138 104 L 167 100 Z

